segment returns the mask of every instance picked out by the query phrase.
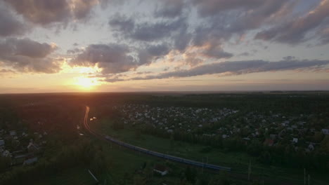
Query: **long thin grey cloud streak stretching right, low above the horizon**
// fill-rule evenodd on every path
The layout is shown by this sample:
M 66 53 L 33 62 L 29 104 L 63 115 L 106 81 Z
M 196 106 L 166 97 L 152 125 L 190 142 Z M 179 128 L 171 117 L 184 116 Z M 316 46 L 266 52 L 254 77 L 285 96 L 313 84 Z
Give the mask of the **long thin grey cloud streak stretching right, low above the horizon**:
M 224 74 L 239 75 L 250 74 L 265 71 L 283 71 L 295 69 L 318 70 L 325 69 L 325 65 L 329 64 L 329 60 L 282 60 L 279 62 L 267 62 L 264 60 L 248 60 L 235 62 L 220 62 L 214 64 L 204 64 L 192 69 L 179 71 L 169 71 L 157 75 L 148 75 L 143 77 L 129 78 L 127 80 L 150 80 L 162 78 L 183 78 L 190 76 L 200 76 L 205 74 Z M 108 78 L 108 81 L 114 81 Z M 120 79 L 122 81 L 122 79 Z

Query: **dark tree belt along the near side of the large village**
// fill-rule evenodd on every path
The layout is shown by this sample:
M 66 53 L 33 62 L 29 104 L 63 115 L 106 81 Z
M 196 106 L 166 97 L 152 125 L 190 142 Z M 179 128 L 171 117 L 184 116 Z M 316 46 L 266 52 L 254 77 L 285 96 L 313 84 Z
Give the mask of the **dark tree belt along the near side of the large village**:
M 144 125 L 140 128 L 143 134 L 155 135 L 170 139 L 171 136 L 166 132 L 161 132 L 153 126 Z M 223 139 L 220 135 L 208 137 L 202 135 L 193 135 L 188 132 L 174 132 L 174 140 L 190 143 L 198 143 L 224 151 L 244 151 L 250 156 L 257 157 L 260 163 L 266 165 L 283 165 L 285 167 L 307 167 L 308 169 L 326 172 L 329 169 L 329 135 L 321 139 L 320 146 L 315 151 L 307 152 L 304 150 L 295 151 L 295 146 L 291 143 L 277 144 L 276 146 L 266 146 L 260 140 L 254 139 L 252 142 L 246 142 L 241 137 L 230 137 Z

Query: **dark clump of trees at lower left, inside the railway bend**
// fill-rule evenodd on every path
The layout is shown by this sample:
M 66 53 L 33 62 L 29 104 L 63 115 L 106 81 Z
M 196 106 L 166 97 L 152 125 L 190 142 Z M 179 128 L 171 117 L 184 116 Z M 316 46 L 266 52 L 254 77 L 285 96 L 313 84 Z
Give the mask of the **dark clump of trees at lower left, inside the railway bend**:
M 89 139 L 77 139 L 71 144 L 53 140 L 48 147 L 45 156 L 35 165 L 13 167 L 0 174 L 0 184 L 35 184 L 70 167 L 86 167 L 94 174 L 103 174 L 110 167 L 106 148 Z

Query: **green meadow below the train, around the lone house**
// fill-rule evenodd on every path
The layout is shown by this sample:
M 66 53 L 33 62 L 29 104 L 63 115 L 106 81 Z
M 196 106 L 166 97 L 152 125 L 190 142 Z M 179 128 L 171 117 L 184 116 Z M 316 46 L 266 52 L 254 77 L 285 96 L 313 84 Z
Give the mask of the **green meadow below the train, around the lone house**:
M 180 165 L 178 163 L 163 160 L 162 158 L 148 156 L 143 153 L 131 152 L 130 149 L 126 149 L 122 146 L 103 141 L 100 142 L 107 148 L 104 149 L 104 152 L 112 157 L 110 171 L 99 178 L 101 181 L 108 179 L 108 184 L 134 184 L 134 177 L 138 176 L 140 173 L 138 170 L 141 169 L 144 163 L 146 163 L 146 170 L 141 172 L 143 174 L 142 177 L 145 177 L 147 176 L 147 173 L 152 172 L 155 164 L 162 164 L 170 168 L 169 174 L 163 177 L 154 175 L 152 178 L 148 179 L 149 181 L 146 184 L 177 184 L 177 182 L 181 180 L 178 176 L 179 172 L 183 172 L 187 167 L 187 165 Z M 197 171 L 198 175 L 202 174 L 202 168 L 198 168 Z M 214 176 L 217 174 L 219 173 L 212 172 L 209 175 Z M 127 178 L 127 176 L 129 178 Z M 236 184 L 247 185 L 247 182 L 238 179 L 233 179 L 233 182 Z

